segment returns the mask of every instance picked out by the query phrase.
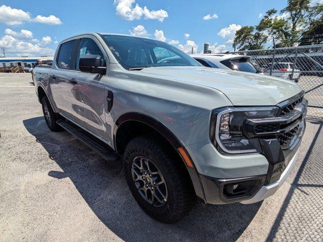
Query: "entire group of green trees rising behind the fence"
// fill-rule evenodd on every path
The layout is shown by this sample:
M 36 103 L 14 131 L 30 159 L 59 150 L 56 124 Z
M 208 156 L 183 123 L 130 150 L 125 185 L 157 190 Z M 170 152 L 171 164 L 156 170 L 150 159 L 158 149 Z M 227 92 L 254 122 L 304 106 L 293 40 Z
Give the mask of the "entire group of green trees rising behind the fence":
M 294 46 L 301 36 L 322 33 L 322 14 L 322 4 L 310 6 L 310 0 L 288 0 L 280 15 L 276 9 L 270 9 L 258 25 L 238 30 L 235 44 L 239 49 L 263 48 L 270 36 L 276 47 Z

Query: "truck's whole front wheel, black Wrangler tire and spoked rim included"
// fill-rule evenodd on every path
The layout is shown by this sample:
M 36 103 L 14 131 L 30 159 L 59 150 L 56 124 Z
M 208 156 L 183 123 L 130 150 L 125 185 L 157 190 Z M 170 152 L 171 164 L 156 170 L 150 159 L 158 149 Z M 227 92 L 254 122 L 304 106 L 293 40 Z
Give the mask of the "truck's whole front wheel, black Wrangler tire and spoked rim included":
M 158 142 L 149 137 L 131 140 L 124 152 L 129 189 L 141 208 L 152 218 L 174 223 L 195 204 L 195 193 L 182 167 Z

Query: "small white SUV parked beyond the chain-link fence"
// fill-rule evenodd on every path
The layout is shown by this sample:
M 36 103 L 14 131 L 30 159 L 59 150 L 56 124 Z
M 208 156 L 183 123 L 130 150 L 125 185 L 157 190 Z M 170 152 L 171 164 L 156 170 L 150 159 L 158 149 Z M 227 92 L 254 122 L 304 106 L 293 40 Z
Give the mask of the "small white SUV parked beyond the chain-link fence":
M 271 63 L 267 65 L 265 75 L 270 75 L 270 68 L 271 68 Z M 293 72 L 293 68 L 294 68 L 294 72 Z M 296 66 L 294 66 L 294 63 L 278 62 L 273 64 L 271 76 L 280 77 L 286 80 L 293 80 L 295 82 L 298 82 L 301 76 L 301 71 Z

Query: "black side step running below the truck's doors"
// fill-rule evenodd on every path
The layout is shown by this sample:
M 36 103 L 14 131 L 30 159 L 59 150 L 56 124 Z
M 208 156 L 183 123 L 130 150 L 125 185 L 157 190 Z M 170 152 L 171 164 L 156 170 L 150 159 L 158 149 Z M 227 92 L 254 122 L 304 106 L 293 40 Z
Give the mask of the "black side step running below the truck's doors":
M 105 160 L 107 161 L 116 161 L 119 159 L 119 156 L 114 153 L 114 150 L 110 148 L 103 141 L 94 137 L 93 135 L 87 133 L 83 129 L 74 125 L 69 121 L 59 119 L 56 122 L 59 126 L 65 129 L 67 132 L 75 136 L 77 139 L 82 141 L 85 145 L 97 151 Z

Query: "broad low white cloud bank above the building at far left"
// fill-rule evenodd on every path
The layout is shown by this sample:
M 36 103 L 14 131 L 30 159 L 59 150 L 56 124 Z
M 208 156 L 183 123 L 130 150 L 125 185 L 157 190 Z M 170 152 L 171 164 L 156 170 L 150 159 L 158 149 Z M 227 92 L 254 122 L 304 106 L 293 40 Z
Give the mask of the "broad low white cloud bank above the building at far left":
M 53 56 L 55 51 L 49 47 L 40 46 L 37 43 L 31 43 L 24 40 L 19 40 L 11 35 L 5 35 L 0 38 L 0 46 L 6 46 L 8 56 L 37 56 L 48 55 Z

